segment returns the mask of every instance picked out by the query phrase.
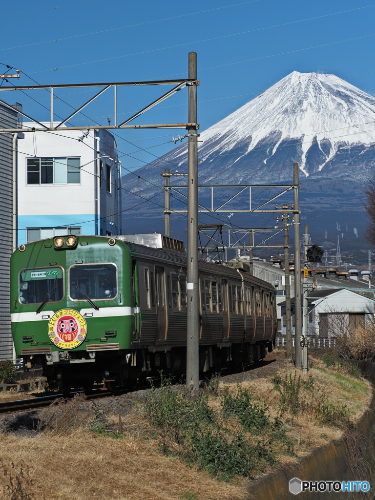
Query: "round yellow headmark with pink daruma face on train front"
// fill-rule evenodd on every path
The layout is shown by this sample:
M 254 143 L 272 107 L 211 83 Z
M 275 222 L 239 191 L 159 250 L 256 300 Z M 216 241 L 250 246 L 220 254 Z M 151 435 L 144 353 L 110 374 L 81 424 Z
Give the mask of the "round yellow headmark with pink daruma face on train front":
M 61 309 L 48 322 L 48 335 L 61 349 L 73 349 L 80 345 L 87 333 L 84 317 L 74 309 Z

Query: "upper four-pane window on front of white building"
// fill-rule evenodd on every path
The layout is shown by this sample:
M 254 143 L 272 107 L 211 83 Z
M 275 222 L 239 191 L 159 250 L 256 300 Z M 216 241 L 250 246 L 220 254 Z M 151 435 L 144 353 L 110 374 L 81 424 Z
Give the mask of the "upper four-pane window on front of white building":
M 27 184 L 79 184 L 80 158 L 27 158 Z

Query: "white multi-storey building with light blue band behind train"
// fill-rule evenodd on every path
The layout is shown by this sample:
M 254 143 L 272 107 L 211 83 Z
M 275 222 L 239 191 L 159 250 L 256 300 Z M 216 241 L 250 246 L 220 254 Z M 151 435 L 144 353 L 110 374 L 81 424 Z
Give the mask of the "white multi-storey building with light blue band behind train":
M 21 144 L 18 245 L 68 233 L 121 234 L 121 163 L 111 133 L 61 127 L 26 132 Z

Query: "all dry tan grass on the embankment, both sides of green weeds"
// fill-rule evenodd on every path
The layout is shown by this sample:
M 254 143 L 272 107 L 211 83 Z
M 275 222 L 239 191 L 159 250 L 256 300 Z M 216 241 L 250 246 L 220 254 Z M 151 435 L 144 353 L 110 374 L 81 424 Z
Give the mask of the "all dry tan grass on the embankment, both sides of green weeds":
M 314 393 L 305 390 L 297 415 L 284 411 L 287 436 L 294 442 L 294 456 L 280 448 L 277 459 L 283 464 L 295 462 L 316 446 L 342 436 L 337 427 L 321 425 L 314 418 L 316 394 L 336 404 L 346 404 L 350 418 L 358 419 L 371 399 L 371 386 L 363 379 L 354 379 L 325 367 L 311 359 L 313 367 L 307 380 L 313 378 Z M 294 374 L 291 365 L 282 372 Z M 238 384 L 226 384 L 235 390 Z M 279 393 L 271 377 L 257 378 L 251 385 L 255 398 L 269 406 L 271 417 L 280 416 Z M 224 387 L 220 384 L 219 392 Z M 224 483 L 205 472 L 185 465 L 175 457 L 162 455 L 159 436 L 147 424 L 140 404 L 126 413 L 103 415 L 105 431 L 88 422 L 100 424 L 98 411 L 82 410 L 83 397 L 67 404 L 52 405 L 44 411 L 35 437 L 12 433 L 0 434 L 0 457 L 7 473 L 0 466 L 0 497 L 4 500 L 242 500 L 247 497 L 244 480 Z M 219 398 L 210 398 L 210 406 L 219 412 Z M 99 417 L 98 417 L 99 415 Z M 104 422 L 105 420 L 105 422 Z M 120 435 L 119 435 L 120 434 Z M 118 437 L 118 438 L 115 438 Z M 12 464 L 12 465 L 11 465 Z M 269 470 L 266 469 L 266 470 Z M 11 496 L 11 485 L 21 477 L 24 495 Z M 23 493 L 22 493 L 23 494 Z

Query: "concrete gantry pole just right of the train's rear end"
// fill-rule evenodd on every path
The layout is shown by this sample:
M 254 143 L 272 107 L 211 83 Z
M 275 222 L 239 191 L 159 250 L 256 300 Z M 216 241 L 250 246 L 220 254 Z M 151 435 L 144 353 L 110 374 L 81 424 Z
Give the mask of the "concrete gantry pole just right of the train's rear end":
M 293 163 L 294 186 L 294 346 L 295 367 L 302 367 L 302 308 L 301 308 L 301 260 L 299 251 L 299 171 L 298 163 Z

